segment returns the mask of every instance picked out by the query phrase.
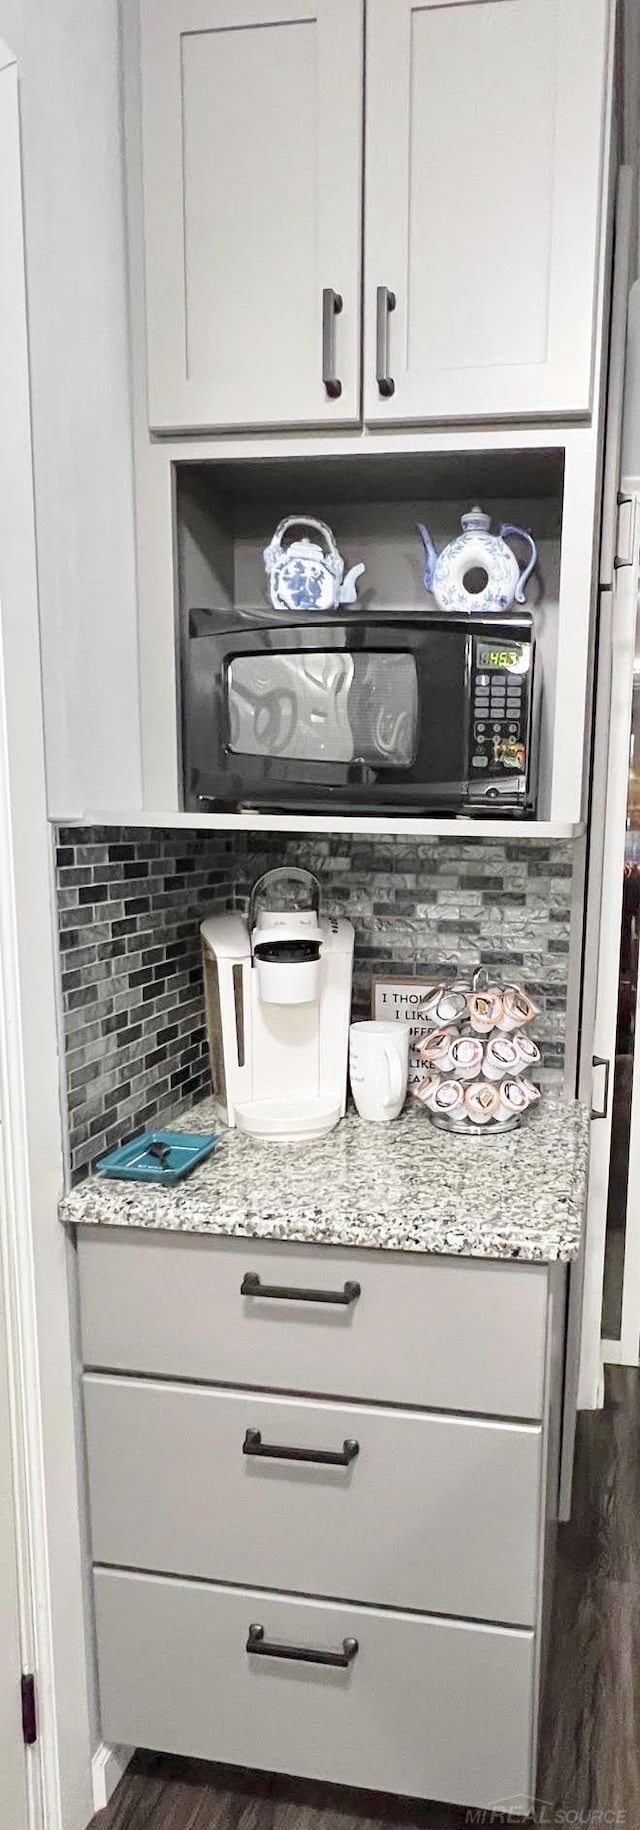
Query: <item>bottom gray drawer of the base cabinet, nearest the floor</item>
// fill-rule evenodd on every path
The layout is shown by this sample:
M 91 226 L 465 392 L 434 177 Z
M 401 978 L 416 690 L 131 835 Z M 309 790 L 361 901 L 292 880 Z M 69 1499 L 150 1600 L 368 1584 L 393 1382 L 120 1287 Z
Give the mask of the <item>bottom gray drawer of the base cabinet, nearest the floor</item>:
M 452 1804 L 530 1797 L 532 1632 L 102 1568 L 95 1610 L 108 1742 Z

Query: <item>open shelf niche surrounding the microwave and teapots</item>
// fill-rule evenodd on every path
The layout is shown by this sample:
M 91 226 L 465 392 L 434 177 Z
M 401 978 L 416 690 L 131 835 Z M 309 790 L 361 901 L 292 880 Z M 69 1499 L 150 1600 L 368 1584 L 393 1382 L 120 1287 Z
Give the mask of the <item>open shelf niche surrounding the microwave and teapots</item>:
M 399 452 L 296 458 L 234 458 L 176 465 L 176 573 L 177 646 L 183 653 L 188 613 L 201 609 L 265 609 L 269 604 L 263 547 L 285 514 L 313 514 L 329 523 L 346 567 L 364 560 L 358 584 L 362 609 L 430 611 L 424 591 L 424 554 L 417 522 L 426 522 L 437 549 L 455 538 L 461 516 L 479 503 L 497 531 L 516 522 L 532 531 L 538 567 L 528 580 L 527 609 L 536 628 L 536 664 L 541 673 L 541 728 L 538 818 L 517 822 L 521 834 L 567 836 L 574 829 L 554 822 L 554 728 L 558 692 L 560 558 L 563 531 L 561 447 L 474 452 Z M 589 613 L 589 609 L 587 609 Z M 187 818 L 187 816 L 185 816 Z M 196 824 L 196 816 L 190 816 Z M 230 827 L 294 829 L 294 816 L 205 814 Z M 311 816 L 309 816 L 311 818 Z M 505 820 L 322 820 L 324 831 L 430 831 L 488 827 L 508 834 Z

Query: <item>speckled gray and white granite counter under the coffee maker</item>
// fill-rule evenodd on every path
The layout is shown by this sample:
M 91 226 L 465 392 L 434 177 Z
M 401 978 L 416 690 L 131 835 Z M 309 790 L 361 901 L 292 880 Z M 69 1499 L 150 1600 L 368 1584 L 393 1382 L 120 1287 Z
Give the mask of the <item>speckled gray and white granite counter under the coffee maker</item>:
M 212 1103 L 176 1120 L 216 1129 Z M 545 1098 L 507 1136 L 455 1138 L 408 1103 L 397 1124 L 349 1113 L 316 1144 L 238 1131 L 177 1188 L 91 1177 L 60 1204 L 77 1226 L 148 1226 L 315 1244 L 552 1263 L 576 1257 L 589 1113 Z

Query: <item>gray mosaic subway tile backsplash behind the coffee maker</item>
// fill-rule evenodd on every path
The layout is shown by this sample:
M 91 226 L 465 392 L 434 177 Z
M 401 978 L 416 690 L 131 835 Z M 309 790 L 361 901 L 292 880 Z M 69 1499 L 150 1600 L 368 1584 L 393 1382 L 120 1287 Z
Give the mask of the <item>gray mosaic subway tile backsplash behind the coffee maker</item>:
M 280 864 L 320 878 L 355 924 L 353 1008 L 375 975 L 486 964 L 541 1014 L 543 1080 L 563 1072 L 571 844 L 481 838 L 285 838 L 135 827 L 57 831 L 71 1179 L 124 1136 L 210 1089 L 199 922 L 247 910 Z

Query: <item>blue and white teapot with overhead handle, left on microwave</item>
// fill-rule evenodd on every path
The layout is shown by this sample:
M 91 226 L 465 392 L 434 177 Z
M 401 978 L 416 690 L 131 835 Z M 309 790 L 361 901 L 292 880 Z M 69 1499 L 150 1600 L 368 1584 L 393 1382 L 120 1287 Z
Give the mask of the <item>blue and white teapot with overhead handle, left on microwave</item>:
M 289 527 L 313 527 L 322 534 L 324 545 L 304 536 L 291 540 L 285 547 L 283 536 Z M 355 582 L 364 573 L 360 564 L 351 565 L 344 576 L 344 558 L 331 527 L 316 522 L 311 514 L 287 514 L 278 523 L 269 547 L 265 547 L 265 567 L 274 609 L 338 609 L 340 604 L 355 604 Z

